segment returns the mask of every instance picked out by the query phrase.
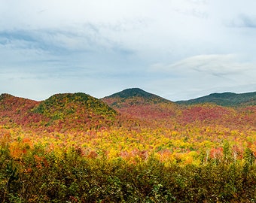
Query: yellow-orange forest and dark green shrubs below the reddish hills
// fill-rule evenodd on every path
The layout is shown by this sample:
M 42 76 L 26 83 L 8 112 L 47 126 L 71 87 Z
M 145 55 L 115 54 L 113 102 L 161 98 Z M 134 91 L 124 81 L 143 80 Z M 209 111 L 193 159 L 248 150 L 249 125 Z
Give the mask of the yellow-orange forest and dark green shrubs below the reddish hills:
M 151 136 L 159 141 L 147 148 L 143 141 L 150 146 L 152 140 L 143 131 L 130 132 L 136 136 L 118 132 L 118 137 L 114 130 L 90 132 L 90 138 L 45 132 L 31 140 L 26 136 L 34 132 L 0 129 L 2 202 L 256 201 L 254 145 L 248 144 L 254 132 L 245 137 L 244 148 L 235 147 L 228 137 L 222 145 L 207 141 L 205 148 L 192 139 L 188 145 L 184 132 L 178 131 L 165 144 L 162 129 Z M 87 146 L 75 145 L 71 138 L 83 139 Z M 130 150 L 122 150 L 123 139 Z

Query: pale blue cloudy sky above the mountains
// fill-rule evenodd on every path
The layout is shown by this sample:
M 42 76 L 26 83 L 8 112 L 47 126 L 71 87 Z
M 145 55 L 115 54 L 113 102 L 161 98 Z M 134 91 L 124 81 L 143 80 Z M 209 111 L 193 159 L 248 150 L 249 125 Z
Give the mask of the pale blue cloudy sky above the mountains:
M 256 91 L 255 0 L 0 0 L 0 94 Z

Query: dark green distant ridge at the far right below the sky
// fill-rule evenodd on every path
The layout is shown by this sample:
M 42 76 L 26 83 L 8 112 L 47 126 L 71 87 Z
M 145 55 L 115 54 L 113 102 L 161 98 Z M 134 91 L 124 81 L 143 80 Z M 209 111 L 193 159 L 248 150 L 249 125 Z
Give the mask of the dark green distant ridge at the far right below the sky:
M 235 107 L 256 105 L 256 92 L 236 94 L 233 92 L 212 93 L 200 98 L 176 102 L 180 105 L 197 105 L 202 103 L 214 103 L 216 105 Z

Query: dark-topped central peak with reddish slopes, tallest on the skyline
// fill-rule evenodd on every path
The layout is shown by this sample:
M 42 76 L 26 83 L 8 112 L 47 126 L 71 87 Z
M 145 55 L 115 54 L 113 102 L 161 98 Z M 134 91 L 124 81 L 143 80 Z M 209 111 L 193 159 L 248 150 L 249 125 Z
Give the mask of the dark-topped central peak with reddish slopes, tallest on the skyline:
M 177 107 L 174 102 L 139 88 L 124 89 L 102 101 L 121 114 L 143 119 L 172 117 Z

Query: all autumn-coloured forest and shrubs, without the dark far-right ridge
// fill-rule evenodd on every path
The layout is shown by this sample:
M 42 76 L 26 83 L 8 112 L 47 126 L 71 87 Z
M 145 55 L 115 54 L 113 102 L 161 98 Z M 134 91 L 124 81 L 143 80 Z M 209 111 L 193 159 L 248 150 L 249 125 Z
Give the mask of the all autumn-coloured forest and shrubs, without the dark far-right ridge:
M 254 105 L 129 94 L 1 95 L 0 199 L 256 201 Z

